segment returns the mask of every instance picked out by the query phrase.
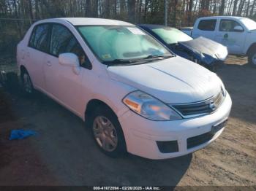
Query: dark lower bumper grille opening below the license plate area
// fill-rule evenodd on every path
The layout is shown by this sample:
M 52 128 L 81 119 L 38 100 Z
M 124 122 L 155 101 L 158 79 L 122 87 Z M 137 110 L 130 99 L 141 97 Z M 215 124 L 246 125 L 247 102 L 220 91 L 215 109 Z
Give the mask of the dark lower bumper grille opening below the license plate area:
M 204 133 L 200 136 L 193 136 L 187 139 L 187 149 L 191 149 L 193 147 L 197 147 L 200 144 L 204 144 L 207 141 L 210 141 L 214 137 L 214 133 Z

